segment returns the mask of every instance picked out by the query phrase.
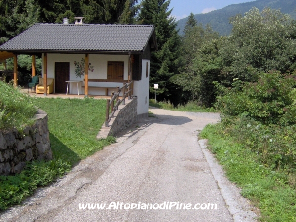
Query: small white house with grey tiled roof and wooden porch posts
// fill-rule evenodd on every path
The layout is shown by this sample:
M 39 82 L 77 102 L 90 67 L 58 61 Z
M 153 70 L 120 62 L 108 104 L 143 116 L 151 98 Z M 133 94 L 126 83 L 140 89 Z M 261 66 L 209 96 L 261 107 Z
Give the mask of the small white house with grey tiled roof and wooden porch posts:
M 138 97 L 138 116 L 148 116 L 151 52 L 157 49 L 154 26 L 37 23 L 0 46 L 14 57 L 17 85 L 17 55 L 42 55 L 42 83 L 53 82 L 53 93 L 111 95 L 117 86 L 133 81 Z M 49 80 L 50 78 L 50 80 Z M 43 91 L 42 91 L 43 92 Z M 44 90 L 44 95 L 47 91 Z

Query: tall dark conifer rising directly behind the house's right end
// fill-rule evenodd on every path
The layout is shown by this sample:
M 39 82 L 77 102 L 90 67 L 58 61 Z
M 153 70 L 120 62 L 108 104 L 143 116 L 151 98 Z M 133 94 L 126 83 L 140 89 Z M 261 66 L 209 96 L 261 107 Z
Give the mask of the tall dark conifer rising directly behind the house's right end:
M 138 23 L 154 25 L 158 50 L 152 52 L 150 66 L 150 96 L 155 93 L 154 83 L 159 86 L 158 100 L 170 99 L 179 103 L 178 92 L 170 78 L 178 73 L 180 63 L 180 37 L 176 20 L 168 10 L 170 0 L 143 0 Z M 154 94 L 155 95 L 155 94 Z

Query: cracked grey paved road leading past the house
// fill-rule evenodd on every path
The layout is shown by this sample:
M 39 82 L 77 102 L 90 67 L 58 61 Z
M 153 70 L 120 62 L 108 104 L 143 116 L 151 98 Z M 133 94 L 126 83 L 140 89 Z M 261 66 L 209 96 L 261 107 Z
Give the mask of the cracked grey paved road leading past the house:
M 81 161 L 57 183 L 39 189 L 23 206 L 0 215 L 0 220 L 233 221 L 235 217 L 225 204 L 197 139 L 198 130 L 219 121 L 219 114 L 161 109 L 152 112 L 156 118 L 137 123 L 132 131 L 119 137 L 116 144 Z M 217 209 L 177 210 L 176 206 L 172 210 L 79 209 L 79 203 L 105 203 L 107 208 L 111 202 L 136 203 L 137 208 L 138 204 L 145 206 L 143 203 L 154 204 L 155 208 L 157 203 L 164 205 L 164 202 L 192 206 L 213 203 Z

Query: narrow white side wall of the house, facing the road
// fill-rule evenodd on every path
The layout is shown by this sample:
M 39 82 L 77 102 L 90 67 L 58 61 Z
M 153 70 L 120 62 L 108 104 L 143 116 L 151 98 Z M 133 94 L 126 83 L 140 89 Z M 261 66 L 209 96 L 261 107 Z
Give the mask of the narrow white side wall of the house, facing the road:
M 146 62 L 149 63 L 148 77 L 146 77 Z M 142 79 L 134 81 L 134 96 L 138 97 L 138 115 L 149 112 L 149 79 L 150 60 L 142 61 Z

